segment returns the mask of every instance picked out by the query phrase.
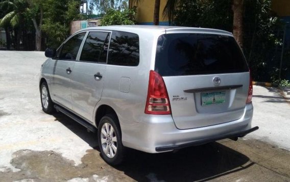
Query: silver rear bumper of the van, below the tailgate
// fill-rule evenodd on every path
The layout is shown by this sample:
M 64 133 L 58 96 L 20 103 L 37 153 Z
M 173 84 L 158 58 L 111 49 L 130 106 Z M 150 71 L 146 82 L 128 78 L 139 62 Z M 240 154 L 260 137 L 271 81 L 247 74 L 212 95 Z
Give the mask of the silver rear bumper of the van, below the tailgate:
M 122 142 L 126 147 L 149 153 L 172 151 L 202 145 L 225 138 L 245 136 L 252 128 L 253 105 L 246 105 L 243 116 L 235 121 L 211 126 L 178 129 L 171 115 L 145 115 L 140 122 L 125 124 L 120 120 Z M 219 119 L 219 118 L 216 118 Z M 128 122 L 127 122 L 128 123 Z

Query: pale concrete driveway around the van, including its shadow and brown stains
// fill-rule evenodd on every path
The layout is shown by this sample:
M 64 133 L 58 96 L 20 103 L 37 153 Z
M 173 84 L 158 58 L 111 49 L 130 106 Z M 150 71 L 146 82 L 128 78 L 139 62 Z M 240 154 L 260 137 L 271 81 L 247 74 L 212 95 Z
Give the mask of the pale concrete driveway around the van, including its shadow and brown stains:
M 290 105 L 278 90 L 254 87 L 253 126 L 176 153 L 129 150 L 122 166 L 100 157 L 97 138 L 62 114 L 41 110 L 43 52 L 0 51 L 0 181 L 290 181 Z M 273 145 L 270 145 L 271 143 Z

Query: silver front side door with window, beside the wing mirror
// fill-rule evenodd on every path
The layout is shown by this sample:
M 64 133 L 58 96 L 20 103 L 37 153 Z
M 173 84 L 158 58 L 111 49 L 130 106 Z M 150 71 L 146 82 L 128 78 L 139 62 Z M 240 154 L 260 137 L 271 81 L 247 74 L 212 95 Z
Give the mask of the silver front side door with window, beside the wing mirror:
M 73 74 L 75 61 L 85 34 L 86 32 L 79 33 L 69 38 L 62 45 L 53 70 L 51 91 L 54 100 L 68 109 L 72 109 L 71 75 Z

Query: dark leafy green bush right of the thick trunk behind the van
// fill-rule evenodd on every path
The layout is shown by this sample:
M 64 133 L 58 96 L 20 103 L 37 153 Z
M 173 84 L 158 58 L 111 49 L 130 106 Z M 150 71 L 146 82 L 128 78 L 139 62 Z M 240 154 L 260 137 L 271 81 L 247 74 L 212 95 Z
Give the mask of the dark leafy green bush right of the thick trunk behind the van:
M 260 82 L 278 79 L 283 30 L 281 19 L 272 12 L 272 1 L 245 1 L 244 53 L 252 76 Z

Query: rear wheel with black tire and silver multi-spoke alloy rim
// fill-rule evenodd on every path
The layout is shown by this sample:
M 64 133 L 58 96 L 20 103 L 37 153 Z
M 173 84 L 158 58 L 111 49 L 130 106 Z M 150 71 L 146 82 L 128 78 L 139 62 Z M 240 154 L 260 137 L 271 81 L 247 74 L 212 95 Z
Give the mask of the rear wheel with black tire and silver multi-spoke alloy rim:
M 122 144 L 118 119 L 114 115 L 108 114 L 101 119 L 98 127 L 98 139 L 104 161 L 112 166 L 123 162 L 125 147 Z

